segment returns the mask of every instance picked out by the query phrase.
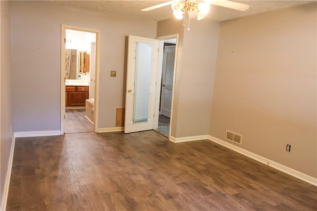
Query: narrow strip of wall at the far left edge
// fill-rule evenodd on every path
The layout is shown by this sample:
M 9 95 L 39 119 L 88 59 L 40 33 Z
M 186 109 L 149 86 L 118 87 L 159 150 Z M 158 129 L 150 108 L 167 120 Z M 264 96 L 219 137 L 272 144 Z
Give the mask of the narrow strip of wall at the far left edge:
M 12 74 L 11 74 L 11 39 L 10 39 L 10 8 L 8 1 L 0 1 L 1 7 L 1 53 L 0 53 L 0 201 L 4 197 L 4 183 L 9 171 L 8 162 L 13 134 L 10 132 L 12 124 Z M 1 204 L 2 208 L 3 204 Z

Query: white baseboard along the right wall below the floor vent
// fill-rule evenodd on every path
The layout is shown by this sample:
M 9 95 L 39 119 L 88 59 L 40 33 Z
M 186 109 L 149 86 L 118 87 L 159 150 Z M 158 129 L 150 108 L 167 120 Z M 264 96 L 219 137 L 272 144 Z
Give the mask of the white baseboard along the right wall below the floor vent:
M 233 150 L 233 151 L 235 151 L 237 153 L 240 153 L 240 154 L 242 154 L 244 156 L 247 156 L 249 158 L 255 159 L 255 160 L 257 160 L 259 162 L 262 162 L 262 163 L 264 163 L 264 164 L 266 164 L 268 166 L 271 166 L 271 167 L 273 167 L 273 168 L 275 168 L 277 170 L 280 170 L 280 171 L 282 171 L 284 173 L 287 173 L 287 174 L 289 174 L 291 176 L 294 176 L 294 177 L 296 177 L 298 179 L 301 179 L 301 180 L 303 180 L 305 182 L 308 182 L 308 183 L 310 183 L 312 185 L 317 186 L 317 178 L 314 178 L 312 176 L 309 176 L 307 174 L 299 172 L 299 171 L 297 171 L 295 169 L 289 168 L 289 167 L 287 167 L 285 165 L 282 165 L 282 164 L 280 164 L 278 162 L 275 162 L 273 160 L 264 158 L 262 156 L 254 154 L 254 153 L 251 153 L 250 151 L 247 151 L 247 150 L 244 150 L 244 149 L 242 149 L 240 147 L 234 146 L 234 145 L 232 145 L 230 143 L 227 143 L 225 141 L 217 139 L 217 138 L 215 138 L 213 136 L 209 136 L 208 139 L 210 141 L 212 141 L 212 142 L 215 142 L 215 143 L 220 144 L 220 145 L 222 145 L 222 146 L 224 146 L 226 148 L 229 148 L 230 150 Z

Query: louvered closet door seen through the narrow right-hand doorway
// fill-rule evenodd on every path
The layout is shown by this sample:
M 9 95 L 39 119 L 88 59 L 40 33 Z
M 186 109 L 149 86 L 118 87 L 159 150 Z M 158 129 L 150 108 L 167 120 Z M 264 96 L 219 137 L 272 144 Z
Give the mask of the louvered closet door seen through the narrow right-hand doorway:
M 170 117 L 174 78 L 175 46 L 165 46 L 161 91 L 161 114 Z

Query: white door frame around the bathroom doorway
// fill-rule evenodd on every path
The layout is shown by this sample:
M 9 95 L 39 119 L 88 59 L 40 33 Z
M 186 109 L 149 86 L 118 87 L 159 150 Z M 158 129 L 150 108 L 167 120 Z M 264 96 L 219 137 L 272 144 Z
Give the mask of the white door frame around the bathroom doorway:
M 96 33 L 96 82 L 95 82 L 95 101 L 94 101 L 94 132 L 98 131 L 98 97 L 99 97 L 99 74 L 100 74 L 100 40 L 101 30 L 90 29 L 78 26 L 61 24 L 61 39 L 60 39 L 60 134 L 64 134 L 64 116 L 65 116 L 65 39 L 66 29 L 72 29 L 83 32 Z

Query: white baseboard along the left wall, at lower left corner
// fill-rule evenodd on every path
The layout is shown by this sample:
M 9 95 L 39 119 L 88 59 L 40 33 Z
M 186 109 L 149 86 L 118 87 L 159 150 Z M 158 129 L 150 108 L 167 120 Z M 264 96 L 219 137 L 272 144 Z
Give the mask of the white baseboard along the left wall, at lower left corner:
M 8 160 L 8 169 L 6 171 L 5 175 L 5 182 L 2 192 L 2 200 L 1 200 L 1 211 L 5 211 L 6 209 L 6 202 L 8 199 L 8 193 L 9 193 L 9 186 L 10 186 L 10 178 L 11 178 L 11 171 L 12 171 L 12 163 L 13 163 L 13 153 L 14 153 L 14 145 L 15 145 L 15 136 L 12 137 L 12 143 L 11 143 L 11 149 L 9 154 L 9 160 Z

